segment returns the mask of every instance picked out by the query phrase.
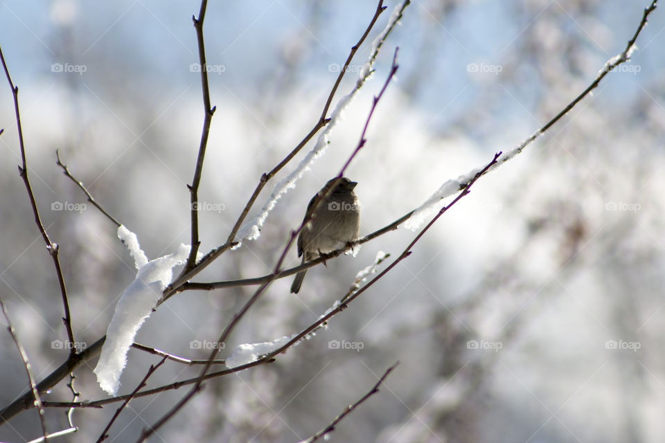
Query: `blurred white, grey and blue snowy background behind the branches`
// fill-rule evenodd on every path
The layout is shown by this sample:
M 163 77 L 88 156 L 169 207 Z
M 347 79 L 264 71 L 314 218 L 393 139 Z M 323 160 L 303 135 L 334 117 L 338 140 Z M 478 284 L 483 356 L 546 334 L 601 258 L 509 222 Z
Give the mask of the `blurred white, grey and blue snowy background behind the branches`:
M 337 98 L 350 91 L 395 4 L 387 1 Z M 204 33 L 208 62 L 216 66 L 210 85 L 217 111 L 199 189 L 210 208 L 199 213 L 202 252 L 225 241 L 260 174 L 314 125 L 375 5 L 209 3 Z M 547 122 L 623 51 L 646 6 L 646 0 L 414 1 L 326 155 L 279 201 L 256 242 L 225 253 L 195 281 L 272 269 L 310 197 L 357 143 L 395 46 L 398 81 L 347 174 L 360 183 L 361 234 Z M 85 196 L 55 165 L 55 150 L 139 236 L 148 257 L 188 244 L 186 183 L 204 117 L 199 73 L 190 70 L 197 62 L 191 17 L 198 10 L 197 1 L 0 2 L 0 44 L 20 89 L 33 190 L 44 226 L 60 244 L 80 341 L 104 334 L 134 268 L 116 228 L 89 204 L 76 210 Z M 276 363 L 207 383 L 151 441 L 298 441 L 400 360 L 386 386 L 337 426 L 332 441 L 662 442 L 664 29 L 665 15 L 656 10 L 632 62 L 481 179 L 411 257 L 335 317 L 327 332 Z M 0 127 L 0 296 L 41 379 L 66 359 L 57 345 L 66 334 L 53 264 L 17 174 L 4 79 Z M 398 230 L 364 245 L 355 258 L 311 269 L 298 297 L 289 293 L 290 278 L 275 282 L 221 356 L 239 343 L 298 332 L 346 292 L 377 251 L 398 254 L 413 236 Z M 293 249 L 288 265 L 297 262 Z M 253 290 L 180 293 L 152 314 L 136 341 L 204 358 L 209 350 L 190 342 L 215 341 Z M 330 349 L 334 340 L 362 343 L 362 350 Z M 6 332 L 0 343 L 4 406 L 27 382 Z M 131 350 L 121 393 L 158 360 Z M 84 399 L 106 397 L 94 365 L 96 359 L 76 371 Z M 168 362 L 149 386 L 197 373 Z M 64 384 L 44 399 L 70 399 Z M 133 401 L 109 441 L 135 440 L 184 392 Z M 68 441 L 94 441 L 116 407 L 77 410 L 80 431 Z M 64 410 L 47 410 L 51 431 L 65 423 Z M 0 426 L 0 440 L 26 441 L 39 432 L 28 411 Z

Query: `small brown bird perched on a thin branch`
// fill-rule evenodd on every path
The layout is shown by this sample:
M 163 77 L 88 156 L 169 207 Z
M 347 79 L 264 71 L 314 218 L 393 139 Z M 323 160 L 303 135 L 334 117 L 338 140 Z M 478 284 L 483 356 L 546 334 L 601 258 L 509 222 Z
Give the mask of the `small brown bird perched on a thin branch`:
M 336 186 L 335 181 L 337 181 Z M 312 197 L 305 213 L 305 219 L 310 215 L 312 219 L 298 236 L 298 256 L 303 256 L 303 263 L 314 260 L 321 253 L 335 251 L 357 239 L 360 228 L 360 203 L 353 192 L 357 184 L 346 177 L 341 179 L 335 177 Z M 319 204 L 331 188 L 332 192 Z M 291 285 L 292 293 L 300 291 L 306 272 L 307 270 L 296 274 Z

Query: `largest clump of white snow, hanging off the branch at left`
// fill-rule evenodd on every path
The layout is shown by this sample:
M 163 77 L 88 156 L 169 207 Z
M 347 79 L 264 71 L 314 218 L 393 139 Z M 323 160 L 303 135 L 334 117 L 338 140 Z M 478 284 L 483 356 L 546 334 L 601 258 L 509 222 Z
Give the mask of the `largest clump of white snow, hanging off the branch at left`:
M 118 391 L 120 376 L 127 364 L 127 351 L 134 343 L 136 333 L 157 305 L 162 291 L 171 282 L 173 267 L 183 264 L 190 251 L 190 246 L 180 244 L 175 253 L 148 261 L 148 257 L 141 251 L 136 234 L 120 226 L 118 238 L 130 250 L 138 272 L 118 300 L 94 369 L 99 386 L 111 395 Z

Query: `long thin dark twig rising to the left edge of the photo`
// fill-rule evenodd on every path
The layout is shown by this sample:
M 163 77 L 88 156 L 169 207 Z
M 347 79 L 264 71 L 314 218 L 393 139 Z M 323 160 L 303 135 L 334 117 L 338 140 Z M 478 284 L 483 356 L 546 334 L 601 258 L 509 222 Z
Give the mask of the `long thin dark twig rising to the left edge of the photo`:
M 46 251 L 53 258 L 53 264 L 55 264 L 55 273 L 57 274 L 57 282 L 60 284 L 60 293 L 62 294 L 62 305 L 64 306 L 64 327 L 67 329 L 67 338 L 69 339 L 69 355 L 76 355 L 76 346 L 74 346 L 74 333 L 71 329 L 71 316 L 69 315 L 69 300 L 67 300 L 67 288 L 64 286 L 64 278 L 62 277 L 62 269 L 60 269 L 60 260 L 57 258 L 58 245 L 57 243 L 51 242 L 51 239 L 48 238 L 48 234 L 44 229 L 42 224 L 42 219 L 39 218 L 39 210 L 37 210 L 37 201 L 35 201 L 35 195 L 33 195 L 33 188 L 30 186 L 30 180 L 28 179 L 28 164 L 26 161 L 26 148 L 23 140 L 23 127 L 21 126 L 21 113 L 19 112 L 19 87 L 15 86 L 12 82 L 12 77 L 9 75 L 9 69 L 7 63 L 5 62 L 5 56 L 2 53 L 2 48 L 0 47 L 0 60 L 2 61 L 2 67 L 5 70 L 5 75 L 7 77 L 7 82 L 9 83 L 10 88 L 12 89 L 12 94 L 14 96 L 14 113 L 16 116 L 16 125 L 19 132 L 19 146 L 21 148 L 21 161 L 22 166 L 19 166 L 19 175 L 23 182 L 26 185 L 28 190 L 28 197 L 30 198 L 30 206 L 33 207 L 33 215 L 35 215 L 35 223 L 37 228 L 39 228 L 39 233 L 42 234 L 42 238 L 46 243 Z

